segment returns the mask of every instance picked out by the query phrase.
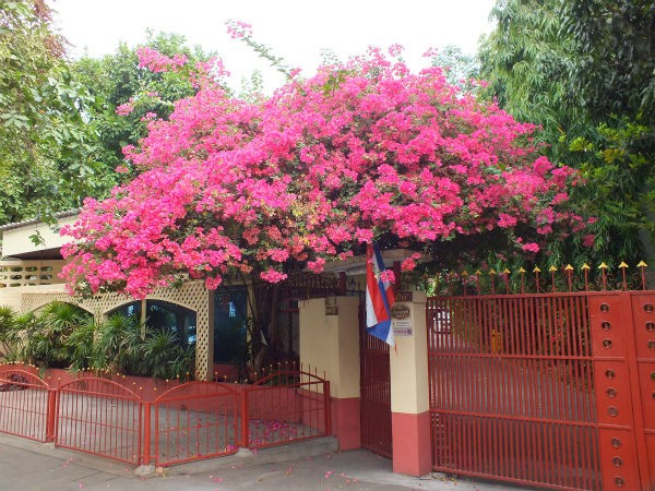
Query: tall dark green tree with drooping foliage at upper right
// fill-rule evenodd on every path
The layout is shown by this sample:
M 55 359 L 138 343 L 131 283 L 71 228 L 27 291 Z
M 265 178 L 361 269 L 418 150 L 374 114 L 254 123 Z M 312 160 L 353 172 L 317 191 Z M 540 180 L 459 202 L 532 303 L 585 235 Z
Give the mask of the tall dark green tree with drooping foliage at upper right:
M 548 156 L 586 180 L 579 211 L 598 218 L 591 255 L 581 238 L 553 242 L 552 263 L 655 258 L 654 12 L 652 1 L 604 0 L 499 0 L 491 11 L 487 95 L 541 125 Z

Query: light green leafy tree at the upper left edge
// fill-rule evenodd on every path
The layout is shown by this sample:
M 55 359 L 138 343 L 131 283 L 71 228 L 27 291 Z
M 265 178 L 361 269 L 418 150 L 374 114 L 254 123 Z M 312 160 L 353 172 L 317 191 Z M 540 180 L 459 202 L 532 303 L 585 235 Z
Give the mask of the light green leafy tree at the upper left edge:
M 0 1 L 0 224 L 76 206 L 106 168 L 43 0 Z

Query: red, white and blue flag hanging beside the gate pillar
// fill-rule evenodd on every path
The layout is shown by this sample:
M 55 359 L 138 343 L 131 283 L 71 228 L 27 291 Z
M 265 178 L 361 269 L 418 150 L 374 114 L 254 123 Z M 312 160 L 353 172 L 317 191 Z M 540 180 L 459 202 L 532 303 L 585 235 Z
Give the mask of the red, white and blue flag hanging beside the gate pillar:
M 395 296 L 391 283 L 382 274 L 385 271 L 380 250 L 373 243 L 366 250 L 366 331 L 389 346 L 395 347 L 391 328 L 391 307 Z

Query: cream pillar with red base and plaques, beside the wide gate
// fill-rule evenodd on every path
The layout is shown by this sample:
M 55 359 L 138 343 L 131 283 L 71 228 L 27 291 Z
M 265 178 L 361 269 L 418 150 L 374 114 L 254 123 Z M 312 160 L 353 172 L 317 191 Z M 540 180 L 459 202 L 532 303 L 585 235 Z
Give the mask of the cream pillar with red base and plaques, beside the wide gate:
M 426 295 L 398 295 L 392 325 L 396 342 L 395 352 L 392 348 L 389 356 L 393 471 L 421 476 L 432 467 Z

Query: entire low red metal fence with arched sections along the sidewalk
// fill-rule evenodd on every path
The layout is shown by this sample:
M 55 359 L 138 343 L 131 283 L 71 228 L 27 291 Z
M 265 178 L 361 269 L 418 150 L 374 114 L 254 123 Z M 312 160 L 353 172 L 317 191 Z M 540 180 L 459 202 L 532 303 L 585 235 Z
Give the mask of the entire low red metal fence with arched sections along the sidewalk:
M 169 466 L 326 436 L 330 382 L 285 370 L 252 385 L 187 382 L 150 398 L 82 376 L 51 386 L 0 367 L 0 432 L 130 464 Z

